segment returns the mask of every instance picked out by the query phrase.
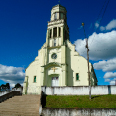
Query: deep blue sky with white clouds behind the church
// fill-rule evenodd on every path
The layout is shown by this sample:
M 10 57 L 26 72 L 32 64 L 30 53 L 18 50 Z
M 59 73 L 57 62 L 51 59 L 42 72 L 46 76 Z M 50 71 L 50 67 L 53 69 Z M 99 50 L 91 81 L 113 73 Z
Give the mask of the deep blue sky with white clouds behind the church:
M 50 21 L 52 7 L 57 4 L 58 0 L 0 0 L 0 85 L 23 85 L 25 68 L 34 61 L 45 43 L 47 21 Z M 89 58 L 98 85 L 114 85 L 116 0 L 61 0 L 60 4 L 67 9 L 70 41 L 86 58 L 81 26 L 85 23 Z

